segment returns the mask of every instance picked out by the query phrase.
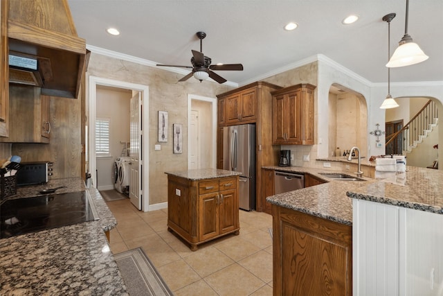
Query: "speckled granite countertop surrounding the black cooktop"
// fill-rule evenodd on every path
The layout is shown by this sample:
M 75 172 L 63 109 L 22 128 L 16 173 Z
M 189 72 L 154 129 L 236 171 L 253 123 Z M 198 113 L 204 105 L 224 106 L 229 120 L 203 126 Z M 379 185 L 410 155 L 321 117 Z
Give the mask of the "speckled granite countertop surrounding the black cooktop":
M 87 190 L 100 220 L 1 239 L 0 294 L 127 295 L 105 236 L 117 222 L 97 189 L 85 189 L 80 177 L 66 178 L 19 187 L 12 198 L 57 186 L 66 186 L 57 193 Z

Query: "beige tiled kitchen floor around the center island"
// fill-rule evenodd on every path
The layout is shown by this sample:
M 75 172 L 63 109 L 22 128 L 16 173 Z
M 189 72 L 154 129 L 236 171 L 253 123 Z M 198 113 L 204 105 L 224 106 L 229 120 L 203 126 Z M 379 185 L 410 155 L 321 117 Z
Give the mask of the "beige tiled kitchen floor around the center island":
M 240 234 L 192 252 L 168 232 L 168 210 L 137 211 L 128 199 L 107 202 L 117 219 L 111 251 L 143 250 L 174 295 L 272 295 L 272 216 L 239 211 Z

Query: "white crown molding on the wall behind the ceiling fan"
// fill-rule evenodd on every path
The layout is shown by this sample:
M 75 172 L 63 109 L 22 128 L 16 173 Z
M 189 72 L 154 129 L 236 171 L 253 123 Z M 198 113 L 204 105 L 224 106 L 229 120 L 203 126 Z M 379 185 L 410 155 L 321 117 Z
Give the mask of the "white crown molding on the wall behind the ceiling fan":
M 190 71 L 188 71 L 188 70 L 180 69 L 180 68 L 176 68 L 176 67 L 158 67 L 156 65 L 158 63 L 153 62 L 152 60 L 137 58 L 137 57 L 134 57 L 134 55 L 127 55 L 125 53 L 118 53 L 117 51 L 109 51 L 108 49 L 102 49 L 101 47 L 97 47 L 97 46 L 93 46 L 93 45 L 89 45 L 89 44 L 86 45 L 86 48 L 89 51 L 91 51 L 92 53 L 98 53 L 100 55 L 105 55 L 109 58 L 115 58 L 118 60 L 126 60 L 128 62 L 134 62 L 136 64 L 143 64 L 148 67 L 154 67 L 155 69 L 161 69 L 161 70 L 165 70 L 165 71 L 178 73 L 183 76 L 188 75 L 188 73 L 190 73 Z M 208 78 L 206 81 L 218 83 L 211 78 Z M 224 85 L 228 85 L 230 87 L 238 87 L 239 86 L 238 83 L 231 82 L 231 81 L 224 82 Z

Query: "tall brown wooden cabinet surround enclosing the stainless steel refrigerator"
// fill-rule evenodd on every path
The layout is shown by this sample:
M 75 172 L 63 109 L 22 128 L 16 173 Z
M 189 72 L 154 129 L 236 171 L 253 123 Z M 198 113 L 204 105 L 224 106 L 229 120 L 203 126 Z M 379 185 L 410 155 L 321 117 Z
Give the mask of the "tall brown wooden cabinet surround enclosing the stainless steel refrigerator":
M 223 127 L 255 123 L 255 194 L 257 211 L 262 204 L 262 166 L 278 164 L 277 146 L 272 145 L 272 96 L 271 92 L 281 89 L 268 82 L 253 82 L 224 94 L 217 95 L 219 107 L 224 107 L 224 123 L 219 120 L 217 130 L 217 168 L 223 168 Z M 220 103 L 223 101 L 223 103 Z M 219 115 L 219 118 L 221 116 Z

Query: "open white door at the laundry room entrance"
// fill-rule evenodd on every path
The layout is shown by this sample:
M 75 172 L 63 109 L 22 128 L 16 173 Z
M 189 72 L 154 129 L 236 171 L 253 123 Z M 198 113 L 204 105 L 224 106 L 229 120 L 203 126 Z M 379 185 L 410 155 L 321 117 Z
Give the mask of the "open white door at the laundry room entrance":
M 138 209 L 142 209 L 142 190 L 141 180 L 142 180 L 142 165 L 143 165 L 143 155 L 142 155 L 142 130 L 143 126 L 141 116 L 141 92 L 136 92 L 136 94 L 131 98 L 131 125 L 130 125 L 130 157 L 131 157 L 131 181 L 129 184 L 129 199 L 132 204 Z

